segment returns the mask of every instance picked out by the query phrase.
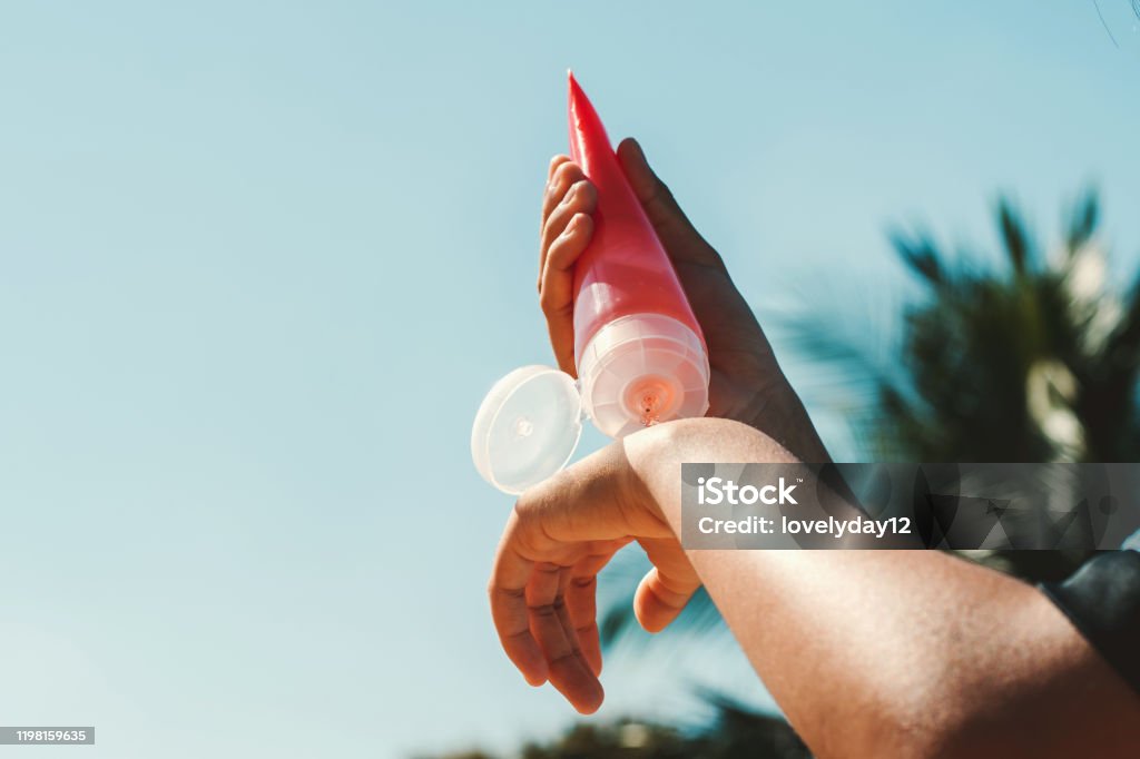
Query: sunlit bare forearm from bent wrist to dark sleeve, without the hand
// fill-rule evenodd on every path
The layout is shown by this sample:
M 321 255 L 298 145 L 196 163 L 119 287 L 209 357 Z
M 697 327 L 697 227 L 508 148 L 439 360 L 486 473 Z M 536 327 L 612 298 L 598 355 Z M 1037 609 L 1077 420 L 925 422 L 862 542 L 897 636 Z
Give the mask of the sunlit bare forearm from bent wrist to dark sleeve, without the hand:
M 645 449 L 630 439 L 627 449 L 678 533 L 681 462 L 793 460 L 755 430 L 714 419 L 678 423 Z M 1048 757 L 1093 745 L 1113 756 L 1127 719 L 1105 712 L 1138 716 L 1134 696 L 1060 612 L 996 572 L 937 552 L 689 556 L 822 756 Z

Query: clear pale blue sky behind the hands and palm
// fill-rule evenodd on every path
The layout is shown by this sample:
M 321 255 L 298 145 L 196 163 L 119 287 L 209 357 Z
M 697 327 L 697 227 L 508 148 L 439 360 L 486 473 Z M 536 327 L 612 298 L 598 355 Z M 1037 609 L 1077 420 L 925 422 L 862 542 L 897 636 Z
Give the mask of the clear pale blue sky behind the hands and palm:
M 564 725 L 491 632 L 469 434 L 551 360 L 567 67 L 762 313 L 857 330 L 905 294 L 887 225 L 986 243 L 1001 189 L 1053 230 L 1096 181 L 1134 262 L 1138 58 L 1078 1 L 7 3 L 0 721 L 171 759 Z M 603 715 L 684 661 L 617 664 Z

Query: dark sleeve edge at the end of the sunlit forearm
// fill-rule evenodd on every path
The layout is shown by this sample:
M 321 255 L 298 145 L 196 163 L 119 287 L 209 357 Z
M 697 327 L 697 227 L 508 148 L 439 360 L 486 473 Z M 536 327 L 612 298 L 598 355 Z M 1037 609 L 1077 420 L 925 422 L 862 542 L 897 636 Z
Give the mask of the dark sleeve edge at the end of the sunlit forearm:
M 1100 554 L 1041 589 L 1140 693 L 1140 552 Z

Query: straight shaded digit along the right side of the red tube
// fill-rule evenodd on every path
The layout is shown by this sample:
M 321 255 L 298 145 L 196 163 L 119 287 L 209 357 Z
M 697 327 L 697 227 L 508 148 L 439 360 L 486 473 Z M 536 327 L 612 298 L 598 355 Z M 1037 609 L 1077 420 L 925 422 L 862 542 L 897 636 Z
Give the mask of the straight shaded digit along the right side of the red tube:
M 632 137 L 621 140 L 617 153 L 626 180 L 669 256 L 723 268 L 720 256 L 700 236 L 673 193 L 650 168 L 637 140 Z

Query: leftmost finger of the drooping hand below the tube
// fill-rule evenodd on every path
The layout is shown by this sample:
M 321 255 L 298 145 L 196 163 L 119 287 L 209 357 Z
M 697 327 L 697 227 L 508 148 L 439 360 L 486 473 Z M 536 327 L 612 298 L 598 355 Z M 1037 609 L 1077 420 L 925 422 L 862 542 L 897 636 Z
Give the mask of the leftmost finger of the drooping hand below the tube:
M 530 610 L 526 598 L 534 562 L 520 555 L 511 541 L 518 522 L 518 517 L 512 515 L 507 523 L 491 569 L 488 595 L 491 620 L 503 651 L 526 680 L 538 686 L 546 682 L 548 671 L 546 656 L 530 631 Z

